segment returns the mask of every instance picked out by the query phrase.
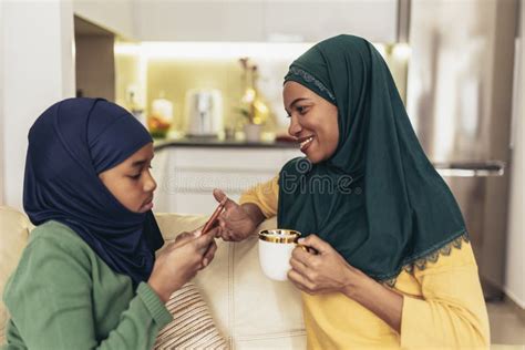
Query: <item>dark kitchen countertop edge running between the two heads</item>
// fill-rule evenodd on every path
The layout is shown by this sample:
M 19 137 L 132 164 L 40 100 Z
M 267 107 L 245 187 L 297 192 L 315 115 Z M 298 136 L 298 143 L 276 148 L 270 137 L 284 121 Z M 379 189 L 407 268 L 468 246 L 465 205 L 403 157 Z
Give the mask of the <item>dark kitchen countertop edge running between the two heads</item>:
M 154 148 L 159 151 L 171 147 L 213 147 L 213 148 L 298 148 L 295 142 L 260 141 L 246 142 L 239 140 L 218 140 L 205 137 L 184 137 L 174 140 L 155 140 Z

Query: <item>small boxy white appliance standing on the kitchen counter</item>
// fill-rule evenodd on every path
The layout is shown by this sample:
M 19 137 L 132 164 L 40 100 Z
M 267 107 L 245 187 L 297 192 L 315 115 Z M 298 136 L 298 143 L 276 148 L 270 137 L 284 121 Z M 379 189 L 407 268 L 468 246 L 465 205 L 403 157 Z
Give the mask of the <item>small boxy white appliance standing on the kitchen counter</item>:
M 217 137 L 223 131 L 223 96 L 215 89 L 193 89 L 186 92 L 187 136 Z

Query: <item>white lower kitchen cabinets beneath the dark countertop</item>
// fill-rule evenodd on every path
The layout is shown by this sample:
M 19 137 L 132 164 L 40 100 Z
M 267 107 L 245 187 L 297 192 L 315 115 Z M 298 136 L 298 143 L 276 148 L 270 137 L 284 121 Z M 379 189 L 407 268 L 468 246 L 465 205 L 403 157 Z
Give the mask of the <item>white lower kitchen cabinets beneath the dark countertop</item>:
M 166 147 L 152 162 L 157 182 L 157 213 L 210 214 L 217 203 L 212 192 L 224 189 L 238 200 L 240 194 L 271 179 L 282 165 L 301 153 L 296 148 Z

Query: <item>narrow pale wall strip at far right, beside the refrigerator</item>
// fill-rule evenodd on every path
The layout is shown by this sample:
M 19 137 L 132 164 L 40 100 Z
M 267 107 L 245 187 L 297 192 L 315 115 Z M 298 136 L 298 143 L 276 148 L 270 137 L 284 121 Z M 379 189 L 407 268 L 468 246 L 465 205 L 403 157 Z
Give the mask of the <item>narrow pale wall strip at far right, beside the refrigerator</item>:
M 508 213 L 507 260 L 505 292 L 522 308 L 525 308 L 525 3 L 519 12 L 519 50 L 516 54 L 513 157 L 511 173 L 511 196 Z

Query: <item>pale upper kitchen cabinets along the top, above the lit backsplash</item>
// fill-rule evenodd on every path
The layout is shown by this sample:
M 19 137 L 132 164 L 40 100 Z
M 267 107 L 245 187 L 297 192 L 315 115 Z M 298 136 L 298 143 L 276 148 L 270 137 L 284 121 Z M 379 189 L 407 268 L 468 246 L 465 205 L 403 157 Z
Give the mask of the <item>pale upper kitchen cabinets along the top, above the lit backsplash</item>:
M 317 42 L 348 33 L 394 42 L 398 0 L 145 0 L 135 2 L 135 14 L 142 41 Z

